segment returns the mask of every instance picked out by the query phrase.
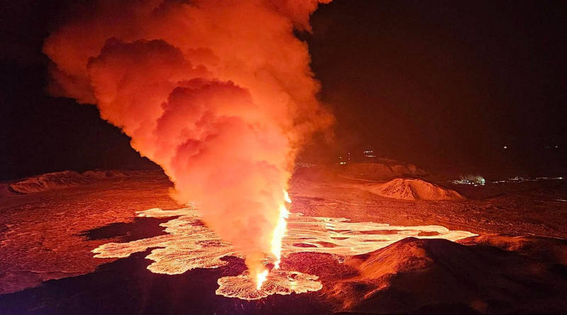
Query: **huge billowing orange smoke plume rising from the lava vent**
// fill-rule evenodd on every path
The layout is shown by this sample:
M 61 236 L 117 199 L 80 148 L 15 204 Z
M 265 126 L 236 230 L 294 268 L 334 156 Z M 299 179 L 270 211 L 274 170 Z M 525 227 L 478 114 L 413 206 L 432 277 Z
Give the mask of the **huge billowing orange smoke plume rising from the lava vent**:
M 293 35 L 329 1 L 98 1 L 45 41 L 50 92 L 95 103 L 264 273 L 295 156 L 332 123 Z

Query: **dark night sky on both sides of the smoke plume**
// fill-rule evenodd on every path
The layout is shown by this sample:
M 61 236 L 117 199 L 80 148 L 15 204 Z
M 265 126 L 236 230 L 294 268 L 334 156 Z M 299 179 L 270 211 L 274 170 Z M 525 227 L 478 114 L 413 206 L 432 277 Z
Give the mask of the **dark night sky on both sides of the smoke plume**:
M 43 38 L 67 7 L 3 1 L 0 179 L 152 166 L 94 106 L 44 92 Z M 306 159 L 374 149 L 432 171 L 565 171 L 565 1 L 335 0 L 312 23 L 300 36 L 337 125 Z

